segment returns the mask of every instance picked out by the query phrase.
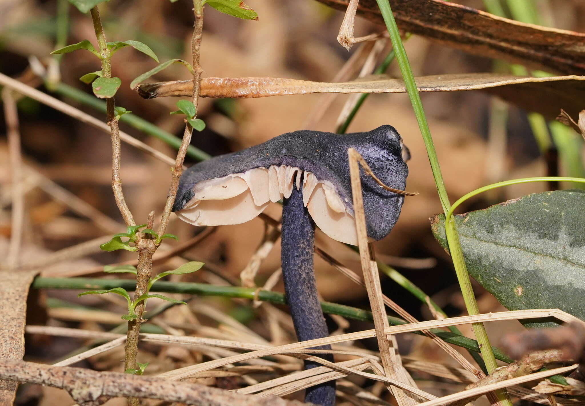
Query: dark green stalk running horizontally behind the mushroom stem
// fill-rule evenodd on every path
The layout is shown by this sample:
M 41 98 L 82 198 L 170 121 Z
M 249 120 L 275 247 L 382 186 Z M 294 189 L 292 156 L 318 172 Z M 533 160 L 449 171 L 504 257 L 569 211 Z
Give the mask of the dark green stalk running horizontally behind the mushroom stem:
M 38 277 L 33 281 L 32 286 L 37 289 L 49 288 L 49 289 L 112 289 L 115 287 L 122 287 L 127 291 L 134 290 L 136 282 L 131 279 L 99 279 L 99 278 L 42 278 Z M 284 294 L 259 290 L 255 288 L 244 288 L 239 286 L 220 286 L 220 285 L 208 285 L 204 283 L 191 283 L 191 282 L 168 282 L 168 281 L 157 281 L 153 285 L 153 291 L 161 293 L 181 293 L 181 294 L 194 294 L 201 296 L 217 296 L 217 297 L 229 297 L 229 298 L 245 298 L 250 300 L 260 300 L 271 302 L 274 304 L 286 304 Z M 321 308 L 325 313 L 336 314 L 346 318 L 355 319 L 359 321 L 373 322 L 371 312 L 341 305 L 332 302 L 321 302 Z M 145 314 L 145 316 L 152 317 L 152 314 Z M 388 316 L 388 322 L 390 325 L 397 326 L 402 324 L 408 324 L 407 321 L 397 317 Z M 463 335 L 459 335 L 453 332 L 444 331 L 442 329 L 431 329 L 433 333 L 438 335 L 442 340 L 450 344 L 460 346 L 474 352 L 479 352 L 480 348 L 476 340 L 467 338 Z M 119 331 L 118 331 L 119 332 Z M 422 333 L 417 332 L 422 335 Z M 493 351 L 497 359 L 504 362 L 514 362 L 505 353 L 493 347 Z

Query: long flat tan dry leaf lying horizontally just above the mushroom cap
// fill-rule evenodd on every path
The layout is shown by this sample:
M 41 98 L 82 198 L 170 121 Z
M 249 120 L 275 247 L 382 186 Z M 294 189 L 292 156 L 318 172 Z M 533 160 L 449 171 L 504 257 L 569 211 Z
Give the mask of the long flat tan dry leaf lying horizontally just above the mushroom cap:
M 527 111 L 554 119 L 565 109 L 577 116 L 585 108 L 585 77 L 519 77 L 493 73 L 422 76 L 415 79 L 419 92 L 483 90 Z M 191 81 L 154 82 L 140 85 L 144 98 L 191 96 Z M 203 78 L 201 97 L 257 98 L 308 93 L 404 93 L 402 79 L 364 77 L 352 82 L 312 82 L 284 78 Z

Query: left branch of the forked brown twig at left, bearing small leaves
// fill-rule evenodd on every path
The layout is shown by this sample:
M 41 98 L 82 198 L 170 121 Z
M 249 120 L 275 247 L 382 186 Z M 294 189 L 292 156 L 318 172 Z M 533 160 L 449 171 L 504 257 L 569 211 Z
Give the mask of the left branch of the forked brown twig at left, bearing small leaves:
M 102 21 L 99 18 L 98 7 L 95 6 L 91 9 L 91 19 L 94 22 L 95 37 L 98 40 L 98 52 L 101 55 L 102 61 L 102 75 L 104 78 L 112 77 L 112 64 L 111 56 L 109 53 L 108 45 L 106 44 L 106 36 L 104 33 L 104 27 L 102 27 Z M 132 213 L 126 204 L 124 193 L 122 191 L 122 177 L 120 175 L 120 160 L 122 156 L 122 146 L 120 144 L 120 129 L 118 126 L 118 120 L 116 120 L 115 112 L 116 102 L 113 97 L 106 99 L 106 120 L 110 128 L 111 140 L 112 140 L 112 190 L 116 200 L 116 205 L 126 225 L 136 225 Z

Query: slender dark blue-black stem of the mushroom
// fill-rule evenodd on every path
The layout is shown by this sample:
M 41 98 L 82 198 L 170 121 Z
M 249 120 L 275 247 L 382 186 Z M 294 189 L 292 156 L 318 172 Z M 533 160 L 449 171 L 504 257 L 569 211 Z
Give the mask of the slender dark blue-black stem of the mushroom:
M 301 183 L 302 184 L 302 183 Z M 315 286 L 313 256 L 315 250 L 315 224 L 304 207 L 302 188 L 292 188 L 284 199 L 282 219 L 281 262 L 284 290 L 299 341 L 323 338 L 329 335 L 325 316 L 319 304 Z M 331 349 L 319 346 L 315 349 Z M 319 355 L 333 362 L 333 355 Z M 305 361 L 305 369 L 319 366 Z M 335 381 L 307 388 L 305 402 L 332 406 L 335 404 Z

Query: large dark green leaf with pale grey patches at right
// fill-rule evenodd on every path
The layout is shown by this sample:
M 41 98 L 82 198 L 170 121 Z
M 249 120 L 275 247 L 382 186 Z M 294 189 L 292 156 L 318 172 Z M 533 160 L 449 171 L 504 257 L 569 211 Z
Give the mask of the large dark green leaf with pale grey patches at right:
M 467 270 L 510 310 L 558 308 L 585 320 L 584 209 L 585 191 L 559 190 L 455 216 Z M 431 229 L 446 248 L 445 216 Z

